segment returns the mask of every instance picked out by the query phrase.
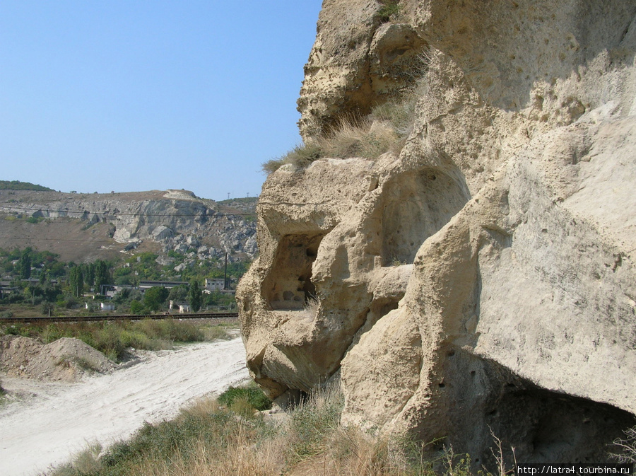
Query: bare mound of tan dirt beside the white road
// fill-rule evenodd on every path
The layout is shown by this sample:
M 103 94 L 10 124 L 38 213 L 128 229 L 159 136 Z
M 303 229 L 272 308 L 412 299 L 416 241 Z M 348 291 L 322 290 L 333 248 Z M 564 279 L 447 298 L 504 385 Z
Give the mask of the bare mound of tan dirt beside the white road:
M 0 337 L 0 369 L 8 376 L 76 382 L 85 373 L 107 373 L 115 367 L 79 339 L 63 337 L 44 345 L 29 337 Z

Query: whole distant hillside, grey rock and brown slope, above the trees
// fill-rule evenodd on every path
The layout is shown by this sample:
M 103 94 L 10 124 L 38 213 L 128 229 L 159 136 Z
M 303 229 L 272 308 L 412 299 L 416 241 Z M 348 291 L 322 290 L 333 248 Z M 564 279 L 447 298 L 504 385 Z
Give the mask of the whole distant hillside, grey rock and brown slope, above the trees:
M 76 194 L 0 190 L 0 248 L 57 252 L 62 260 L 93 261 L 119 251 L 170 251 L 191 260 L 252 260 L 257 253 L 254 207 L 241 209 L 185 190 Z M 16 243 L 16 238 L 20 238 Z M 187 265 L 188 263 L 186 263 Z

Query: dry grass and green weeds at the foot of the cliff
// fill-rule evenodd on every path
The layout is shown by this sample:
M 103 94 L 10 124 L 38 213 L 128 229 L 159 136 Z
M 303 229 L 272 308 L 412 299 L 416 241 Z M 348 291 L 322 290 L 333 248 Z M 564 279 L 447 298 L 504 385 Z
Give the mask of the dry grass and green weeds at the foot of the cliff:
M 319 390 L 281 419 L 257 412 L 267 401 L 253 383 L 200 400 L 176 419 L 144 424 L 105 451 L 89 446 L 47 476 L 469 476 L 471 460 L 452 449 L 435 460 L 406 439 L 383 439 L 340 424 L 339 388 Z M 258 395 L 261 393 L 261 395 Z M 246 395 L 253 395 L 248 397 Z M 276 414 L 274 414 L 276 416 Z M 500 476 L 507 468 L 500 468 Z M 482 476 L 488 473 L 481 472 Z

